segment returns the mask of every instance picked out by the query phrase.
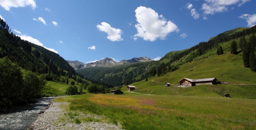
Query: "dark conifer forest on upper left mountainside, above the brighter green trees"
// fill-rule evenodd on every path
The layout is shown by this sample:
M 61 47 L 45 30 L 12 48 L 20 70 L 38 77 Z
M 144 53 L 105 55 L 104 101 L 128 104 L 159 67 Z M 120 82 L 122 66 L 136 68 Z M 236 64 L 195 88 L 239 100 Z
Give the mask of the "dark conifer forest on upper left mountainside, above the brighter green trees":
M 56 75 L 76 74 L 75 70 L 60 55 L 21 40 L 19 36 L 13 34 L 3 19 L 0 19 L 0 52 L 0 58 L 7 56 L 12 62 L 17 62 L 21 68 L 26 70 Z

